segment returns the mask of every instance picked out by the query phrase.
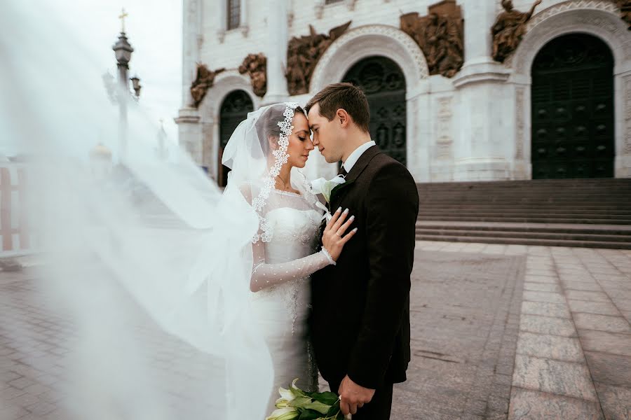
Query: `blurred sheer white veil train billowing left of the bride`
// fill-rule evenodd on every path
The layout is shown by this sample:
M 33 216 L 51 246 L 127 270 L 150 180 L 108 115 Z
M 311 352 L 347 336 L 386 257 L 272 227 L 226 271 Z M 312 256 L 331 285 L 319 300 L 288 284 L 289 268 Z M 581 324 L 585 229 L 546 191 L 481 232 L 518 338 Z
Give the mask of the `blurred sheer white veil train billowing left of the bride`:
M 20 363 L 53 377 L 64 419 L 263 419 L 271 360 L 243 299 L 257 215 L 235 216 L 247 202 L 185 153 L 158 158 L 137 105 L 125 157 L 100 176 L 88 154 L 100 139 L 118 144 L 118 106 L 53 1 L 36 3 L 0 13 L 0 141 L 29 153 L 44 261 L 20 304 L 55 325 L 42 334 L 62 350 Z M 0 317 L 1 335 L 34 344 L 20 316 Z

